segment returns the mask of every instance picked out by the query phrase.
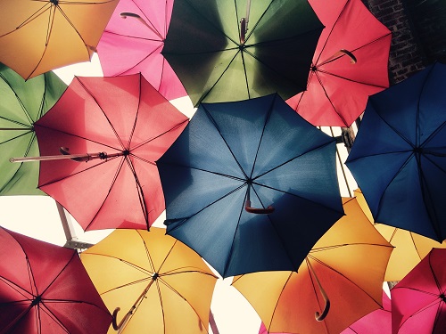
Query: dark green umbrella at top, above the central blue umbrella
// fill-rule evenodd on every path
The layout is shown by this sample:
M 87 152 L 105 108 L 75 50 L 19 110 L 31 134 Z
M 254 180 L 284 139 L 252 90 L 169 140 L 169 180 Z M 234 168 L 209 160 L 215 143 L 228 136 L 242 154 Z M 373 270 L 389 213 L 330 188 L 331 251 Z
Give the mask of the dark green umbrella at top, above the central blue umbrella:
M 177 1 L 161 53 L 195 106 L 287 99 L 305 89 L 323 28 L 307 0 Z

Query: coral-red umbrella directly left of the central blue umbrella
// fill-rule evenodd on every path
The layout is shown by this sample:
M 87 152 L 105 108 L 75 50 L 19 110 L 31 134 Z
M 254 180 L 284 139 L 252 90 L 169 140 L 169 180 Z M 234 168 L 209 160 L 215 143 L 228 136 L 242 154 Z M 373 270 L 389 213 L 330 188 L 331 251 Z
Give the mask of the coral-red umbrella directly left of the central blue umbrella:
M 75 77 L 35 125 L 40 153 L 49 156 L 39 188 L 86 231 L 148 229 L 164 210 L 153 161 L 187 121 L 140 74 Z M 61 147 L 78 158 L 60 159 Z

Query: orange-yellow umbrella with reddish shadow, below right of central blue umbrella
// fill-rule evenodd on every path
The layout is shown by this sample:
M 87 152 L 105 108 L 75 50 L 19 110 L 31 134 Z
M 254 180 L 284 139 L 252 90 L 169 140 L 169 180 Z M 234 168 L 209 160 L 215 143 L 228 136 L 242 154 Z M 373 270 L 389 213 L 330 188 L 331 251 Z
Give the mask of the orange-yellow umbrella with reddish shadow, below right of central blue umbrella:
M 269 332 L 340 333 L 381 307 L 392 246 L 368 222 L 354 198 L 343 199 L 343 207 L 346 216 L 318 240 L 297 272 L 234 278 L 232 285 Z

